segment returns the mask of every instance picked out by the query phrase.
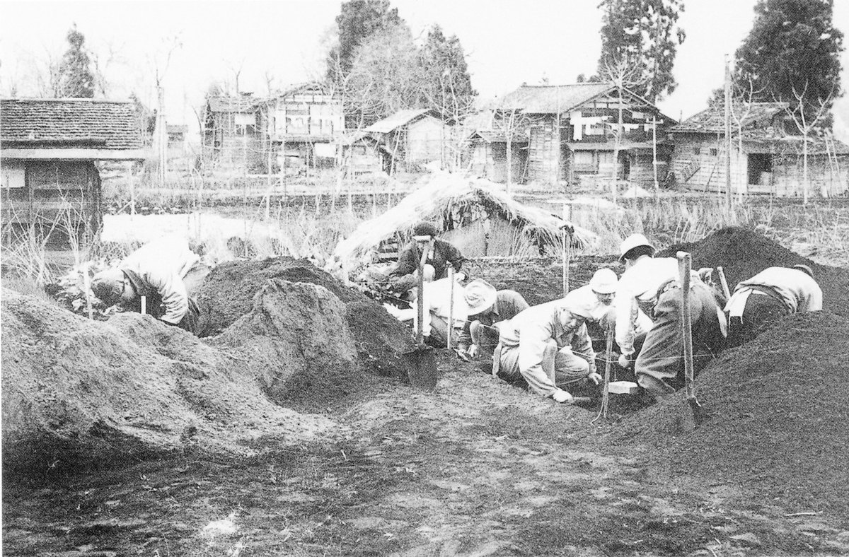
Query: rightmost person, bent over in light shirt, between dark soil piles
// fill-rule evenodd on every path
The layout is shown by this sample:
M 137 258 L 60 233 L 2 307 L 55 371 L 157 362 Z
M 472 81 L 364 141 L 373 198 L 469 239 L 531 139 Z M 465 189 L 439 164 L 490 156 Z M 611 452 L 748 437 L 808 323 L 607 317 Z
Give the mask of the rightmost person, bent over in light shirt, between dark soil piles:
M 782 315 L 821 309 L 823 291 L 810 267 L 768 267 L 740 282 L 728 298 L 728 345 L 750 341 Z

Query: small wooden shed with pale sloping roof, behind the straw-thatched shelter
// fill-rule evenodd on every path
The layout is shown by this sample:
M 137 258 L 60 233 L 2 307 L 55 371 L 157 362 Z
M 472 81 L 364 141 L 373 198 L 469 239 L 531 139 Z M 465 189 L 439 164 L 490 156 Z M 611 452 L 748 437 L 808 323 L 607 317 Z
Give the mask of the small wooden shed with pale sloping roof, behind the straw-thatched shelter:
M 445 166 L 451 153 L 453 128 L 429 109 L 399 110 L 365 128 L 378 140 L 383 169 L 418 170 L 424 164 Z

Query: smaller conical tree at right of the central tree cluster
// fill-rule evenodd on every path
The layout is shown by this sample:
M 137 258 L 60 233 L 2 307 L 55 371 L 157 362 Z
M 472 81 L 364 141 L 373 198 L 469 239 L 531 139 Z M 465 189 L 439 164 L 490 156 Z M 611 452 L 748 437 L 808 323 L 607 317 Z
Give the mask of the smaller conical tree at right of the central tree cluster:
M 457 36 L 446 37 L 434 25 L 422 48 L 424 97 L 443 120 L 458 119 L 472 109 L 477 92 L 472 87 L 469 66 Z

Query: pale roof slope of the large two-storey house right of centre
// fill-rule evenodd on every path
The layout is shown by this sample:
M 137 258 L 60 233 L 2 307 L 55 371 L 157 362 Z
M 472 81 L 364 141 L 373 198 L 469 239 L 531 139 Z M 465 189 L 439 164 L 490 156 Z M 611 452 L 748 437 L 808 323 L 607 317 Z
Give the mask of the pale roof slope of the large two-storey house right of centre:
M 522 110 L 528 114 L 567 112 L 593 97 L 614 90 L 612 83 L 572 83 L 570 85 L 523 85 L 497 103 L 498 110 Z

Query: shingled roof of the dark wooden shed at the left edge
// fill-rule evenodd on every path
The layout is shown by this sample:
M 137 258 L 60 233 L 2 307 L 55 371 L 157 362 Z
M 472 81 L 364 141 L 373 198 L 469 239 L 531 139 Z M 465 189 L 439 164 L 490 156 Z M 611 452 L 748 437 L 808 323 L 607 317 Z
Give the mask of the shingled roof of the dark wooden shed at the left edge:
M 3 147 L 142 148 L 132 103 L 88 98 L 0 99 Z

